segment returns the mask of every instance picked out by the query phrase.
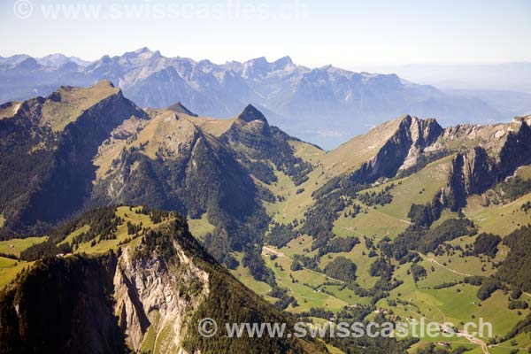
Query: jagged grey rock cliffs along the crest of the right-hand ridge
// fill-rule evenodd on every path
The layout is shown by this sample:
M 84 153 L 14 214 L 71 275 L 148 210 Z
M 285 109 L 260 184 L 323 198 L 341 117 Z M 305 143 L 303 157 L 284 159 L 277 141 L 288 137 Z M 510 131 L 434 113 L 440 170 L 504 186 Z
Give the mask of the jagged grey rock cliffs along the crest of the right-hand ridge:
M 466 205 L 466 197 L 481 194 L 531 162 L 531 118 L 510 124 L 463 125 L 443 129 L 435 119 L 404 116 L 381 149 L 351 173 L 358 183 L 415 170 L 429 161 L 453 155 L 442 200 L 452 210 Z M 432 158 L 433 157 L 433 158 Z

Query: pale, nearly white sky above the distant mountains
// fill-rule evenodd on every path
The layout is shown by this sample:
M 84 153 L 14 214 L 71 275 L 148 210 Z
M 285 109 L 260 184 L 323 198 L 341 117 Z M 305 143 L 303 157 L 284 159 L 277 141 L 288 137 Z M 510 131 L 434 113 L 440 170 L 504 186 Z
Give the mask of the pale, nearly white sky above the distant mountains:
M 96 59 L 147 46 L 165 56 L 214 62 L 289 55 L 303 65 L 349 69 L 531 61 L 529 0 L 1 3 L 3 57 L 62 52 Z M 77 18 L 66 13 L 72 5 L 81 6 Z

